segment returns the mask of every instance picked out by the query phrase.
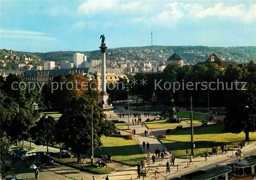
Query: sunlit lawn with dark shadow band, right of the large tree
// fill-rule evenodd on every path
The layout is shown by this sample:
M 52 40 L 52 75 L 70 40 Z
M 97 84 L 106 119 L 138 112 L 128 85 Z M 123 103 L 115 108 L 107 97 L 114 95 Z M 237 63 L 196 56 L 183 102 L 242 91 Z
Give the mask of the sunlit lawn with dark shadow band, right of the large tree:
M 119 137 L 101 137 L 101 150 L 95 152 L 95 155 L 105 155 L 111 152 L 113 155 L 113 160 L 126 163 L 129 165 L 136 165 L 141 160 L 145 158 L 140 149 L 137 141 L 128 140 Z

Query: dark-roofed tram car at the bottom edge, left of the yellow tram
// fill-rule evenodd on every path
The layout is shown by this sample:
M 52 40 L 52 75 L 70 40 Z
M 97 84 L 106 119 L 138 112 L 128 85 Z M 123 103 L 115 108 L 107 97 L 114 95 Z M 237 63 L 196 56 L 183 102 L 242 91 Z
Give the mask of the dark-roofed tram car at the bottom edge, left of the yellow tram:
M 189 174 L 176 177 L 173 180 L 178 179 L 203 179 L 203 180 L 212 180 L 212 179 L 221 179 L 221 180 L 231 180 L 232 176 L 232 167 L 231 166 L 216 166 L 206 170 L 199 170 L 191 172 Z

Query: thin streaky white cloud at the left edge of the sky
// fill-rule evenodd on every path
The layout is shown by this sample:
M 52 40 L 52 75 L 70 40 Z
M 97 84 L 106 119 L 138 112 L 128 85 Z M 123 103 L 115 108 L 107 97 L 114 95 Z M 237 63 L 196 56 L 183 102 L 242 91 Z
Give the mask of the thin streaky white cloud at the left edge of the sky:
M 47 36 L 45 33 L 25 30 L 4 30 L 1 29 L 1 38 L 22 38 L 22 39 L 40 39 L 45 41 L 52 41 L 56 38 Z

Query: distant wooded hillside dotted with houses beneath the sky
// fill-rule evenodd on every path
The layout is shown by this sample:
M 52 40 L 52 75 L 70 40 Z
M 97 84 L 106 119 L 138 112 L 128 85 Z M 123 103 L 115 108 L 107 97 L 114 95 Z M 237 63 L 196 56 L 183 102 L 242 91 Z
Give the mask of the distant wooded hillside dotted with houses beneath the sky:
M 256 46 L 241 47 L 208 47 L 208 46 L 145 46 L 145 47 L 120 47 L 107 49 L 107 60 L 166 60 L 174 52 L 178 53 L 185 63 L 202 62 L 212 53 L 217 53 L 226 61 L 237 63 L 255 61 Z M 73 61 L 74 52 L 48 52 L 48 53 L 29 53 L 16 52 L 17 54 L 27 54 L 36 56 L 45 61 L 55 61 L 57 63 L 68 60 Z M 88 60 L 99 59 L 100 50 L 91 52 L 77 52 L 88 56 Z

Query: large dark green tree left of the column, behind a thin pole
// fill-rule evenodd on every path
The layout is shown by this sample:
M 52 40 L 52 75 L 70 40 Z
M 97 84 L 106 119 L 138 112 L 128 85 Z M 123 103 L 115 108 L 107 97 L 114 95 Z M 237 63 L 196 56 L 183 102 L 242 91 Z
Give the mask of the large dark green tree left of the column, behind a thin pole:
M 91 109 L 93 109 L 94 148 L 102 145 L 100 137 L 110 136 L 115 132 L 115 124 L 105 120 L 102 109 L 94 98 L 81 97 L 69 102 L 70 111 L 61 115 L 56 127 L 56 140 L 66 149 L 77 154 L 77 161 L 81 161 L 81 154 L 87 154 L 91 147 Z

